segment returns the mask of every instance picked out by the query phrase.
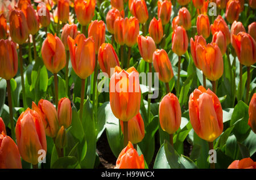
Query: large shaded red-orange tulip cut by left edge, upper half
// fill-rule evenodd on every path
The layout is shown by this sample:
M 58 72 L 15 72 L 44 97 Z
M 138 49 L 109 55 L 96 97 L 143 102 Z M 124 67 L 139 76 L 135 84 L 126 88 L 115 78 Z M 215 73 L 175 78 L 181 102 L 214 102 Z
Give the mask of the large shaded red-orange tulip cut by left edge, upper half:
M 0 77 L 6 80 L 13 78 L 18 71 L 16 44 L 9 40 L 0 40 Z

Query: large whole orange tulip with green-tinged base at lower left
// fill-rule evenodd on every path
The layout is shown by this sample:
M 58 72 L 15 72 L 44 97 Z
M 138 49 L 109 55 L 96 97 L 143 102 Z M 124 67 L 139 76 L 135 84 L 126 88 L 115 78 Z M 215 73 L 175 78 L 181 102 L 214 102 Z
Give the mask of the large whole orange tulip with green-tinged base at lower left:
M 23 160 L 38 164 L 38 152 L 47 152 L 46 132 L 42 119 L 34 110 L 27 109 L 20 114 L 15 128 L 17 145 Z

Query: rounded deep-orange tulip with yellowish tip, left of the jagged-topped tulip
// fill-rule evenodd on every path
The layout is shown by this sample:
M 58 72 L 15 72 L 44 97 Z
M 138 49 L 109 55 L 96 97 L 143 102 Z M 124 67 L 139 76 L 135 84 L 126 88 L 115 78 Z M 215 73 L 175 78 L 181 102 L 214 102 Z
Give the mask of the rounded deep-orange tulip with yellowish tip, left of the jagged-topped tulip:
M 42 58 L 46 68 L 53 74 L 59 72 L 66 65 L 66 53 L 63 42 L 56 35 L 47 34 L 42 49 Z

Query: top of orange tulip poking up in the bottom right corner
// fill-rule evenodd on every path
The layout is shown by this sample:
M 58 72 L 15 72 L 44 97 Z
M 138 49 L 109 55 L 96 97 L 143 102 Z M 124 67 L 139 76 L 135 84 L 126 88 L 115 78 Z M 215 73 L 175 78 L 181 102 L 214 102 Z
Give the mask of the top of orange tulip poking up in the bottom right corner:
M 233 161 L 228 169 L 256 169 L 256 162 L 250 157 L 243 158 L 242 160 Z

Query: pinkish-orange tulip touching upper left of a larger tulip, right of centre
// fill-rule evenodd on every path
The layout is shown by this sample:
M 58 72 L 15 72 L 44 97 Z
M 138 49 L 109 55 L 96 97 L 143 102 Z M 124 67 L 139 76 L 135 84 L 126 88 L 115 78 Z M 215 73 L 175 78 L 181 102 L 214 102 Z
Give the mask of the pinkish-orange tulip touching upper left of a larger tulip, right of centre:
M 155 41 L 153 38 L 150 36 L 138 36 L 137 41 L 139 53 L 141 53 L 143 60 L 148 63 L 152 63 L 153 53 L 156 50 Z

